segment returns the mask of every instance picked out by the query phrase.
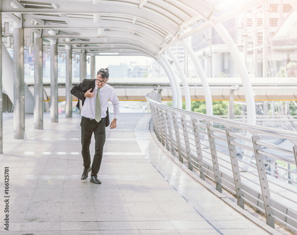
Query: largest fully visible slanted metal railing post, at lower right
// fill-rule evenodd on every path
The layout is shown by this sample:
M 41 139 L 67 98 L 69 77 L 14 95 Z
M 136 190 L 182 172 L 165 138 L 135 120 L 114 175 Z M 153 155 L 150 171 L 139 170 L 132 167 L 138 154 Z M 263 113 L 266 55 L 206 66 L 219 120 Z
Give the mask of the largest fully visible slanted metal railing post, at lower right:
M 265 170 L 265 164 L 264 164 L 264 158 L 263 155 L 258 153 L 258 150 L 262 150 L 262 147 L 256 143 L 257 140 L 260 140 L 260 136 L 252 136 L 252 141 L 254 145 L 254 151 L 255 151 L 255 158 L 257 161 L 257 169 L 258 169 L 258 174 L 259 174 L 259 179 L 260 179 L 260 185 L 261 185 L 261 191 L 262 191 L 262 196 L 263 196 L 263 203 L 265 207 L 265 212 L 266 212 L 266 223 L 274 228 L 274 217 L 273 215 L 273 209 L 269 207 L 269 204 L 272 204 L 272 201 L 269 199 L 270 197 L 270 192 L 268 190 L 268 182 L 267 182 L 267 175 L 266 172 L 263 171 Z

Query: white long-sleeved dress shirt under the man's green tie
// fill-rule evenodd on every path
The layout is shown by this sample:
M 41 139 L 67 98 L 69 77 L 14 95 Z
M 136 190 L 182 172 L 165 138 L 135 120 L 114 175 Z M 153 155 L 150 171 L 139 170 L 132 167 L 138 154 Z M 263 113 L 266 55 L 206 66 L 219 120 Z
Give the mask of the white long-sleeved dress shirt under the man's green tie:
M 95 119 L 95 104 L 96 96 L 98 93 L 98 87 L 95 84 L 94 96 L 92 98 L 86 97 L 85 102 L 83 103 L 83 108 L 81 109 L 81 116 L 86 118 Z M 106 117 L 108 100 L 113 105 L 113 118 L 117 119 L 119 115 L 120 102 L 118 97 L 116 97 L 116 92 L 112 86 L 106 84 L 100 88 L 100 97 L 101 97 L 101 118 Z

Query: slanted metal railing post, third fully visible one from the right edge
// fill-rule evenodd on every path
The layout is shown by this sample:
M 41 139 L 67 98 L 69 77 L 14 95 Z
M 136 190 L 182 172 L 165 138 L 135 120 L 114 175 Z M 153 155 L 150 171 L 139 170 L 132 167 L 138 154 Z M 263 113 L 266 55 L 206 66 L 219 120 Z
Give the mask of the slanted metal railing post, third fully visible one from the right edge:
M 214 179 L 216 180 L 216 189 L 219 192 L 222 192 L 222 184 L 221 184 L 221 178 L 220 178 L 222 177 L 222 173 L 219 172 L 216 144 L 214 142 L 214 138 L 211 137 L 211 134 L 214 134 L 214 132 L 212 130 L 209 130 L 209 127 L 212 127 L 211 123 L 206 124 L 206 129 L 208 133 L 208 141 L 209 141 L 209 148 L 211 152 L 212 165 L 214 167 Z

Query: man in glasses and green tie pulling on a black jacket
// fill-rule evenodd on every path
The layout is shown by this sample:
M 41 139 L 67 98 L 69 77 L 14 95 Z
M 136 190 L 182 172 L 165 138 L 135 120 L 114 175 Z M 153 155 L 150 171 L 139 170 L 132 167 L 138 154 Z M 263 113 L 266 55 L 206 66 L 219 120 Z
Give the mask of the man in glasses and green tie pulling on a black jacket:
M 88 178 L 91 171 L 90 182 L 101 184 L 97 174 L 100 169 L 103 146 L 105 143 L 105 127 L 109 125 L 108 100 L 113 104 L 113 120 L 110 129 L 116 128 L 116 119 L 119 114 L 119 99 L 113 87 L 106 84 L 109 77 L 108 69 L 100 69 L 96 79 L 84 79 L 74 86 L 70 93 L 82 101 L 81 109 L 81 154 L 83 156 L 82 180 Z M 94 132 L 95 154 L 91 166 L 90 143 Z

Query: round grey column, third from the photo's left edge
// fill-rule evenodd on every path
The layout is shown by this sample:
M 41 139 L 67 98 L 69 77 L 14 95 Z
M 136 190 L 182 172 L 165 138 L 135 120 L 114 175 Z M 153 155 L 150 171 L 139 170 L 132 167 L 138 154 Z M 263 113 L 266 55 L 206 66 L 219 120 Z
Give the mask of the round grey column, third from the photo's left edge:
M 34 128 L 43 129 L 42 38 L 34 38 Z

